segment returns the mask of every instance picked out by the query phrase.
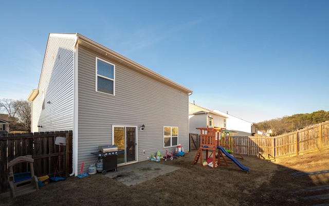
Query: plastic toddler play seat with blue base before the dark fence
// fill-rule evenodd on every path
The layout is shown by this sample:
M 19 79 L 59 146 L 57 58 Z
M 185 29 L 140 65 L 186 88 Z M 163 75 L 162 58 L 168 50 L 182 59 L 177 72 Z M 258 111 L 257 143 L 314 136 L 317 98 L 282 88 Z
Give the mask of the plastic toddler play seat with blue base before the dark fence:
M 20 156 L 9 162 L 9 185 L 13 197 L 39 190 L 38 177 L 34 175 L 32 155 Z M 19 163 L 30 165 L 30 172 L 13 173 L 13 166 Z

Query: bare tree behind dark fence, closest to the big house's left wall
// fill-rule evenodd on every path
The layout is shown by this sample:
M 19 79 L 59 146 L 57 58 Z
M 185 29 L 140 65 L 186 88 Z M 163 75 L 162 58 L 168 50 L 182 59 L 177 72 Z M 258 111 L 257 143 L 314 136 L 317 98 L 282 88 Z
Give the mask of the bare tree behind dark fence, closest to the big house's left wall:
M 13 107 L 17 116 L 20 119 L 20 123 L 26 132 L 31 131 L 31 103 L 26 100 L 16 100 L 13 102 Z

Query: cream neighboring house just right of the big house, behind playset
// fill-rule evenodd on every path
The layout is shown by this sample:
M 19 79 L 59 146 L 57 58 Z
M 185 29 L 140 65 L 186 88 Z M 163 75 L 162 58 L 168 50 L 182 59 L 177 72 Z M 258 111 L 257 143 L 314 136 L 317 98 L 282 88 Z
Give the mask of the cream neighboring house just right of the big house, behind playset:
M 213 125 L 208 117 L 213 119 Z M 225 115 L 220 115 L 209 109 L 189 103 L 189 133 L 200 134 L 200 130 L 196 129 L 198 127 L 206 128 L 209 126 L 225 129 L 226 118 L 227 116 Z

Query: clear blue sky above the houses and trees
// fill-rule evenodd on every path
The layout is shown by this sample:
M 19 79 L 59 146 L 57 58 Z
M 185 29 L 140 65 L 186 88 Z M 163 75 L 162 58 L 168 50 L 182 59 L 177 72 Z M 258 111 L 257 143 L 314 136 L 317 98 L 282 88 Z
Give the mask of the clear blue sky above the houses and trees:
M 0 98 L 38 88 L 49 33 L 80 33 L 249 122 L 329 110 L 329 1 L 1 1 Z

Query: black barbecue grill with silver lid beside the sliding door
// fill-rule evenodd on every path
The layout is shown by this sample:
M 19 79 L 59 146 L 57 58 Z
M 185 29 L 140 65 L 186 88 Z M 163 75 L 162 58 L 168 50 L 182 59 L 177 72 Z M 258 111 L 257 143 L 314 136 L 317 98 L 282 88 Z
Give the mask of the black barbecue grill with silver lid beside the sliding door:
M 106 171 L 117 171 L 118 168 L 118 153 L 123 151 L 118 151 L 116 145 L 103 145 L 98 147 L 99 152 L 92 153 L 98 159 L 103 158 L 103 170 L 102 174 L 105 175 Z

